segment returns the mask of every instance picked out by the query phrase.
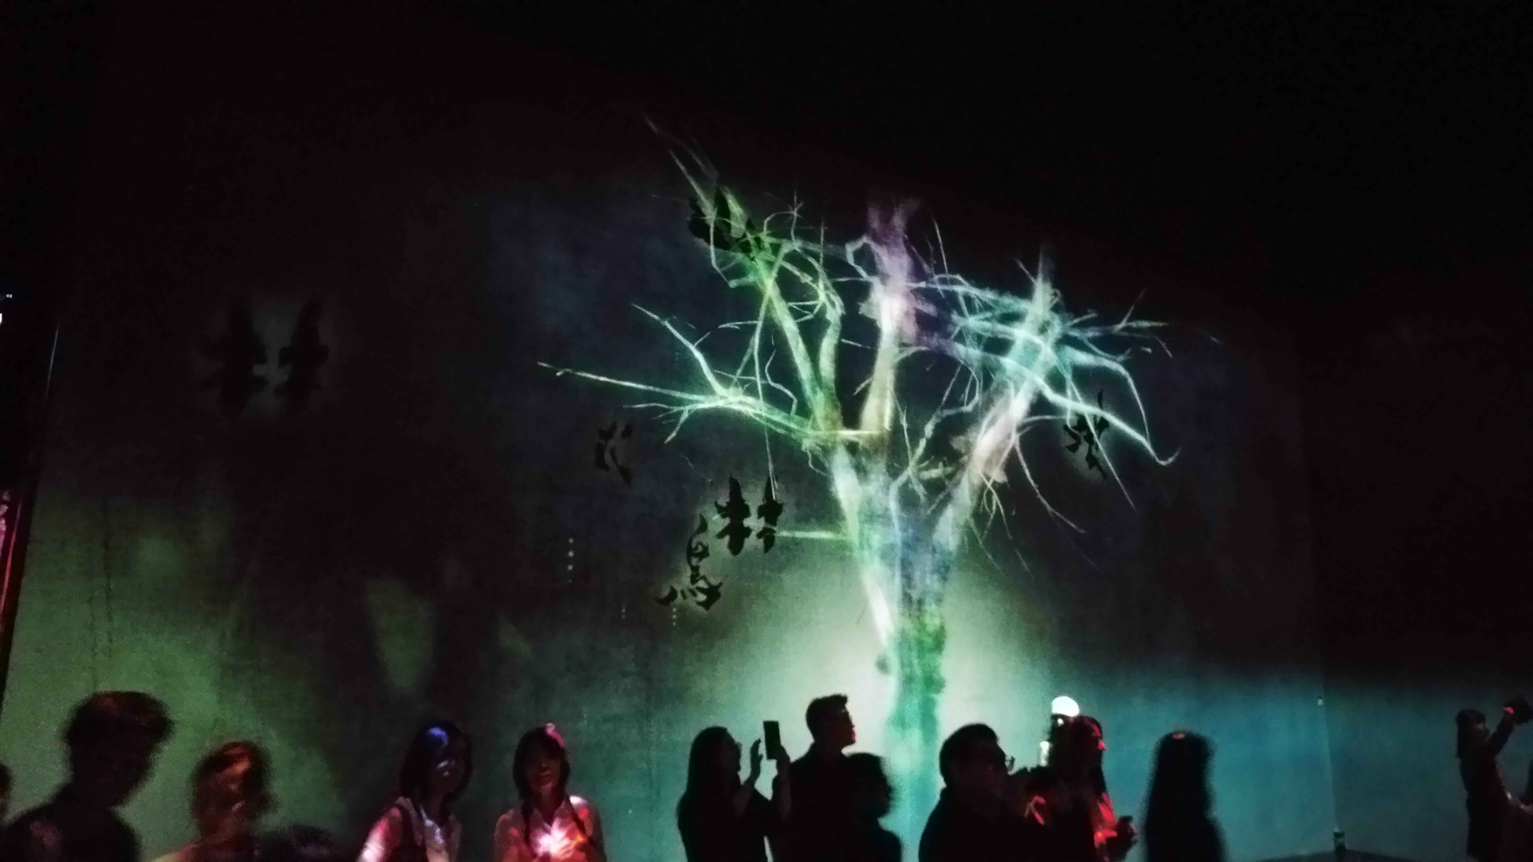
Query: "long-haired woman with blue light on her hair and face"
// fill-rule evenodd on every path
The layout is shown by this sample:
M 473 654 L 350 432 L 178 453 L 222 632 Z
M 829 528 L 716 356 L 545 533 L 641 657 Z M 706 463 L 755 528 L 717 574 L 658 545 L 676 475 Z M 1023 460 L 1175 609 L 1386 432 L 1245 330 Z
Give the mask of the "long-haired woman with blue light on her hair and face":
M 452 804 L 472 773 L 474 746 L 461 727 L 422 727 L 399 767 L 399 799 L 373 824 L 357 862 L 457 862 L 463 827 Z

